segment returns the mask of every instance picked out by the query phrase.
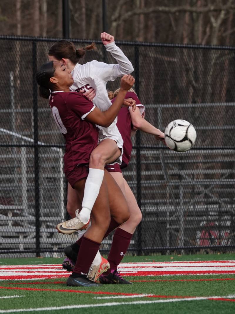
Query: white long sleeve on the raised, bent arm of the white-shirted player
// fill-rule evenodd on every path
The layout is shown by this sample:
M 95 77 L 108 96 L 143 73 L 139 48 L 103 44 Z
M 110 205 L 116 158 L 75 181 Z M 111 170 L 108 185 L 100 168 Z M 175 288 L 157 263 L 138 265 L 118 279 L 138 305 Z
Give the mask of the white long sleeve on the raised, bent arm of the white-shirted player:
M 130 74 L 134 71 L 131 62 L 124 55 L 123 51 L 115 45 L 114 41 L 105 45 L 105 48 L 117 60 L 118 64 L 94 62 L 93 71 L 98 78 L 107 82 L 114 81 L 117 77 Z

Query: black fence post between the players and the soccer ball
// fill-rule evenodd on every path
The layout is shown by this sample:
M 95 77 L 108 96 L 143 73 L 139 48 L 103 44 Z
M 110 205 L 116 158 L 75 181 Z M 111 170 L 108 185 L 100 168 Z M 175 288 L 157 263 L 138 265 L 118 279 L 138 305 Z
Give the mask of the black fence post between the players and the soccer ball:
M 139 95 L 139 47 L 135 46 L 134 47 L 134 71 L 135 71 L 135 91 Z M 135 137 L 135 145 L 136 145 L 136 181 L 137 181 L 137 186 L 136 186 L 136 198 L 137 198 L 137 203 L 138 206 L 141 210 L 141 148 L 140 148 L 140 131 L 138 130 L 136 132 L 136 137 Z M 142 255 L 142 222 L 139 223 L 137 227 L 137 254 Z

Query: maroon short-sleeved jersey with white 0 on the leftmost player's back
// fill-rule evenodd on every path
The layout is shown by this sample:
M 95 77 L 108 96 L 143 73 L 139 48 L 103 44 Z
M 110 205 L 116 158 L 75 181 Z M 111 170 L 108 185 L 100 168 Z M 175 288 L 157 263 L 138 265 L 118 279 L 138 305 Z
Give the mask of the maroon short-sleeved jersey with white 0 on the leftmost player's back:
M 98 143 L 98 129 L 84 119 L 95 109 L 93 102 L 76 91 L 58 91 L 51 93 L 49 104 L 66 141 L 65 172 L 80 164 L 89 164 L 90 154 Z

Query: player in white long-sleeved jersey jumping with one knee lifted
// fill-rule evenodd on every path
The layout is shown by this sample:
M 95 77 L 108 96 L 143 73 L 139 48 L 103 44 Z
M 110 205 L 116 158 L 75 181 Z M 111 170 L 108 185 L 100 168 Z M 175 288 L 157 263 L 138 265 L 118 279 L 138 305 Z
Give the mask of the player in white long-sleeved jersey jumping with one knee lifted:
M 107 51 L 111 53 L 118 64 L 107 64 L 96 60 L 83 65 L 79 64 L 78 60 L 84 56 L 85 50 L 94 49 L 94 44 L 76 50 L 73 43 L 59 41 L 50 48 L 48 54 L 50 61 L 59 61 L 72 71 L 74 79 L 74 84 L 71 86 L 72 90 L 82 89 L 87 91 L 91 88 L 95 89 L 96 95 L 93 102 L 101 111 L 106 111 L 112 104 L 107 95 L 107 82 L 133 72 L 133 66 L 121 49 L 115 45 L 112 35 L 101 33 L 101 39 Z M 129 101 L 133 106 L 133 100 Z M 123 139 L 116 122 L 117 118 L 109 127 L 100 127 L 99 149 L 91 154 L 81 212 L 78 214 L 78 211 L 76 211 L 75 218 L 57 225 L 57 229 L 62 233 L 71 234 L 81 229 L 88 222 L 102 183 L 104 165 L 115 162 L 121 164 L 122 162 Z M 76 198 L 76 191 L 69 185 L 68 200 Z

